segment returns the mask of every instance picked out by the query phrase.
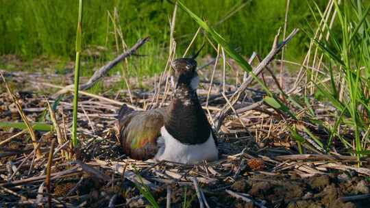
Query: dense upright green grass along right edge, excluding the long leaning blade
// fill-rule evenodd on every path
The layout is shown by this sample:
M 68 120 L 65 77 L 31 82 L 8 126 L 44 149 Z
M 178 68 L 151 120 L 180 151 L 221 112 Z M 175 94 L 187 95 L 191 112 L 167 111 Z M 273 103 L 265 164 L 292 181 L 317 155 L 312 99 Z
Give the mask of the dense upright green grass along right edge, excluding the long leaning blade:
M 328 69 L 325 75 L 311 81 L 336 107 L 336 128 L 331 128 L 331 138 L 336 137 L 347 148 L 353 148 L 360 159 L 369 153 L 366 150 L 370 144 L 370 4 L 360 0 L 341 3 L 334 0 L 334 10 L 339 29 L 334 31 L 326 23 L 324 29 L 329 35 L 315 40 L 325 55 Z M 312 12 L 316 11 L 319 11 L 317 7 L 312 8 Z M 322 14 L 320 17 L 323 18 Z M 340 36 L 334 36 L 334 33 Z M 330 84 L 319 84 L 328 77 Z M 342 127 L 349 127 L 354 132 L 354 140 L 343 137 Z M 329 142 L 328 147 L 332 140 Z

